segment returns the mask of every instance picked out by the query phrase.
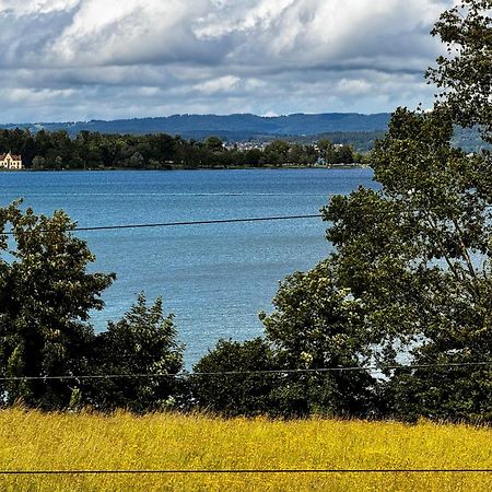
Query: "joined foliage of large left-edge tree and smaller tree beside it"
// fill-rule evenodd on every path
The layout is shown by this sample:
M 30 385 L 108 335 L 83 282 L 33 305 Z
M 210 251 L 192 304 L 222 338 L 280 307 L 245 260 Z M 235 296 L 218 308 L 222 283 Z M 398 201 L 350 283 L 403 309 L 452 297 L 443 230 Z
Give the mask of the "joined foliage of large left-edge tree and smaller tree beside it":
M 115 276 L 86 271 L 95 258 L 73 236 L 74 226 L 62 211 L 47 218 L 23 212 L 20 203 L 0 209 L 3 403 L 21 400 L 48 410 L 89 402 L 101 410 L 173 406 L 179 388 L 167 375 L 183 366 L 173 317 L 163 315 L 160 298 L 148 306 L 141 294 L 122 319 L 96 336 L 90 311 L 103 308 L 101 294 Z M 87 374 L 155 378 L 78 377 Z

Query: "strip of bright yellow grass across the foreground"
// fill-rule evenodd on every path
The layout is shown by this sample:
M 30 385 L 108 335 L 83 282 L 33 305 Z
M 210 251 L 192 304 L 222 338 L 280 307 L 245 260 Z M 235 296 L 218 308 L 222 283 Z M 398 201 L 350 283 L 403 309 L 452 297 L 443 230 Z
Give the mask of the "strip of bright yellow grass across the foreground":
M 492 430 L 427 422 L 0 412 L 1 470 L 257 468 L 492 468 Z M 0 476 L 0 490 L 490 491 L 492 476 Z

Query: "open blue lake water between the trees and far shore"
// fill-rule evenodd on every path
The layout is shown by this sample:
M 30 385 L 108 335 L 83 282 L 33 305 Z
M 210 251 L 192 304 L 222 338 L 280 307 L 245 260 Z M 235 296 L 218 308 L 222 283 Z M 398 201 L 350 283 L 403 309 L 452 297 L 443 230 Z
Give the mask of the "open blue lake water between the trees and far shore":
M 63 209 L 79 226 L 223 220 L 318 213 L 329 197 L 374 186 L 370 169 L 0 173 L 0 204 L 16 198 L 36 213 Z M 320 219 L 78 232 L 97 260 L 116 272 L 106 307 L 92 323 L 104 330 L 144 291 L 175 314 L 186 361 L 220 338 L 261 335 L 279 281 L 314 267 L 330 251 Z

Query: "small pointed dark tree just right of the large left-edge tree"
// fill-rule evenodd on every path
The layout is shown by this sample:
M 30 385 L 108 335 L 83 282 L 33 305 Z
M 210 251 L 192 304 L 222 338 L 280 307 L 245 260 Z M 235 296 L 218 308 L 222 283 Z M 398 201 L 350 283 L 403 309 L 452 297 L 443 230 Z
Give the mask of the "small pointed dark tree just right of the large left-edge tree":
M 162 300 L 148 306 L 140 294 L 130 311 L 117 323 L 110 321 L 95 341 L 95 371 L 122 375 L 93 385 L 92 405 L 103 410 L 127 408 L 152 411 L 173 407 L 177 400 L 184 347 L 176 341 L 173 316 L 164 316 Z M 148 375 L 155 377 L 125 377 Z

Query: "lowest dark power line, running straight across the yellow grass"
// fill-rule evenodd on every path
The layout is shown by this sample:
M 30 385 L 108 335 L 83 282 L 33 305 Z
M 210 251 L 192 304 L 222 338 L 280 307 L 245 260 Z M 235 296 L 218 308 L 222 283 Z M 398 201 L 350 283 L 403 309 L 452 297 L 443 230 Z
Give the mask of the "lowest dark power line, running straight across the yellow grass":
M 203 470 L 0 470 L 0 475 L 272 475 L 272 473 L 492 473 L 492 468 L 367 468 L 367 469 L 203 469 Z

